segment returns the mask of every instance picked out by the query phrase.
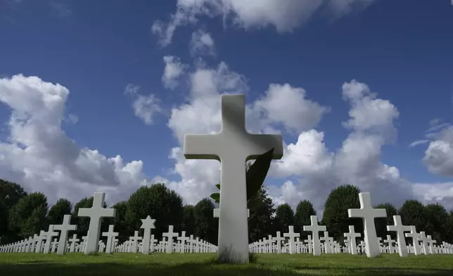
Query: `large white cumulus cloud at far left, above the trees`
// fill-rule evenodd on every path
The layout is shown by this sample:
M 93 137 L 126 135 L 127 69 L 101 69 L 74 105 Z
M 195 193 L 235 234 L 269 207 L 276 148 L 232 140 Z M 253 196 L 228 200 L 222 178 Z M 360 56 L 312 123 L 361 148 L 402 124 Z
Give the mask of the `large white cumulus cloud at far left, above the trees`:
M 109 202 L 122 199 L 146 182 L 143 163 L 107 158 L 70 139 L 61 129 L 69 93 L 39 77 L 0 78 L 0 103 L 11 108 L 8 139 L 0 142 L 0 175 L 29 192 L 44 192 L 51 203 L 96 191 L 108 192 Z

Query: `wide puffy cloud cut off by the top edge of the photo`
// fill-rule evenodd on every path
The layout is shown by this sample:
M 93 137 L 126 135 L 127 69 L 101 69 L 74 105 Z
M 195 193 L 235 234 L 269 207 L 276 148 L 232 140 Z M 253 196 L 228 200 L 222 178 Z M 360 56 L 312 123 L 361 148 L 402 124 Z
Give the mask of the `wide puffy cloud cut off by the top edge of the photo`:
M 338 18 L 356 8 L 366 8 L 374 0 L 178 0 L 170 22 L 156 21 L 151 30 L 160 44 L 171 43 L 177 27 L 196 23 L 198 16 L 222 16 L 245 29 L 274 26 L 278 32 L 291 32 L 310 20 L 323 6 Z

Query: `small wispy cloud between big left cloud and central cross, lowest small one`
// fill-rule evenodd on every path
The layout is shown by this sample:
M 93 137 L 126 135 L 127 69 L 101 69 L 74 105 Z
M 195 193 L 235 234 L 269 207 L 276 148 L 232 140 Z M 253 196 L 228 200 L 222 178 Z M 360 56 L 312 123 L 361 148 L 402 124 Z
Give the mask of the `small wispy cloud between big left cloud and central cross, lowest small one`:
M 155 115 L 162 112 L 160 108 L 160 100 L 153 94 L 143 96 L 139 94 L 140 87 L 134 84 L 127 84 L 125 94 L 132 95 L 134 102 L 132 108 L 137 117 L 143 120 L 146 125 L 153 125 Z

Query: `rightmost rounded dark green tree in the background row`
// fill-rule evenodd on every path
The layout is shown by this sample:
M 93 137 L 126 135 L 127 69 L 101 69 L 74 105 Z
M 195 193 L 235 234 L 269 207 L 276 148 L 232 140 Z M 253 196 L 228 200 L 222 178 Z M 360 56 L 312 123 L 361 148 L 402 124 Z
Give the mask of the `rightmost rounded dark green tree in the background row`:
M 449 215 L 444 206 L 439 203 L 428 204 L 425 207 L 426 234 L 430 234 L 436 241 L 447 239 L 447 228 Z

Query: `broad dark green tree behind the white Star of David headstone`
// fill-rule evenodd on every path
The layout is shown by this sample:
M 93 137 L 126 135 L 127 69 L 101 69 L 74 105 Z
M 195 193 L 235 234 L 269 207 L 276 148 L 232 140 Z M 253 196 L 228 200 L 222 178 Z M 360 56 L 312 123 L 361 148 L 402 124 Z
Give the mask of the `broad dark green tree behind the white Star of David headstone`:
M 141 219 L 150 215 L 156 220 L 153 234 L 160 239 L 169 225 L 174 226 L 174 231 L 181 231 L 182 212 L 181 196 L 165 184 L 157 183 L 142 186 L 129 197 L 126 220 L 131 229 L 138 230 Z

